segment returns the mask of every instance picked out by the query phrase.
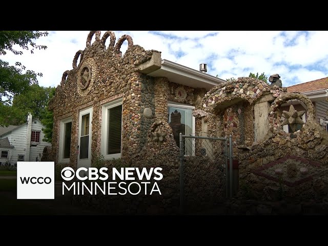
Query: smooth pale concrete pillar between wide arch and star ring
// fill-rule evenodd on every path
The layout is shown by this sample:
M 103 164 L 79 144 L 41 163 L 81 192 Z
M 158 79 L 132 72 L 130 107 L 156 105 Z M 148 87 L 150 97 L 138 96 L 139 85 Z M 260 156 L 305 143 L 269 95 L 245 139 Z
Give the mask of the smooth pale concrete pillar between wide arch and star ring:
M 268 101 L 254 105 L 255 117 L 255 141 L 258 142 L 264 138 L 269 131 L 269 111 L 270 104 Z

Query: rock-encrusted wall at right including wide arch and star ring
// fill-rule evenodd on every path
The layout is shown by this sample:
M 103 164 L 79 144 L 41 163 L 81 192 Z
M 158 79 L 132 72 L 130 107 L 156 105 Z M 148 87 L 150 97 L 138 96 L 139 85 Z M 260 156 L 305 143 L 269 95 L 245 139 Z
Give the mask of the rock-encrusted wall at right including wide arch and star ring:
M 284 124 L 301 122 L 299 108 L 294 111 L 281 106 L 291 99 L 300 100 L 306 107 L 306 124 L 301 130 L 286 133 Z M 242 105 L 242 101 L 248 104 Z M 283 110 L 287 111 L 284 121 Z M 247 119 L 241 117 L 243 111 Z M 240 199 L 293 202 L 327 197 L 328 134 L 317 124 L 308 97 L 241 77 L 210 90 L 193 114 L 202 119 L 219 117 L 221 136 L 233 135 Z M 215 126 L 214 121 L 211 124 Z M 254 133 L 257 142 L 253 142 Z

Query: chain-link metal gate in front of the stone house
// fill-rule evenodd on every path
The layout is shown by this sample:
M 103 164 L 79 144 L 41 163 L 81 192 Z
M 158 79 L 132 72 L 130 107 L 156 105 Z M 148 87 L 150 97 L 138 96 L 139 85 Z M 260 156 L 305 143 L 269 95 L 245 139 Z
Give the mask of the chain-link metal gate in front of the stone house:
M 180 213 L 211 209 L 232 197 L 232 135 L 228 138 L 180 133 L 179 141 Z

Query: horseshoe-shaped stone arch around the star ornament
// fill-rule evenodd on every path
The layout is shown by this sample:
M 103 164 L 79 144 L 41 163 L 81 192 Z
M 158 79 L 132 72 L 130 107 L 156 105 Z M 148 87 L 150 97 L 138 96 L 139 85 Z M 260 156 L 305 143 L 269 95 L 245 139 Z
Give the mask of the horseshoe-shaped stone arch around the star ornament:
M 300 93 L 284 93 L 278 96 L 271 105 L 271 110 L 269 112 L 269 129 L 272 133 L 277 134 L 282 128 L 280 116 L 278 115 L 278 109 L 283 103 L 287 103 L 292 99 L 300 100 L 306 106 L 307 120 L 304 127 L 316 122 L 315 108 L 312 101 L 308 97 Z

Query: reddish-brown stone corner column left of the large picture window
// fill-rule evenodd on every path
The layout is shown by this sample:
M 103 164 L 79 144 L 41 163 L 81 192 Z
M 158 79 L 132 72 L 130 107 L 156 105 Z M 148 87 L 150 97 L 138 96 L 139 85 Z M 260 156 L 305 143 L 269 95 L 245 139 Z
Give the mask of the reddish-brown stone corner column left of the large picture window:
M 155 120 L 165 121 L 169 120 L 168 112 L 168 91 L 169 83 L 167 78 L 155 79 Z

